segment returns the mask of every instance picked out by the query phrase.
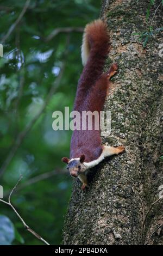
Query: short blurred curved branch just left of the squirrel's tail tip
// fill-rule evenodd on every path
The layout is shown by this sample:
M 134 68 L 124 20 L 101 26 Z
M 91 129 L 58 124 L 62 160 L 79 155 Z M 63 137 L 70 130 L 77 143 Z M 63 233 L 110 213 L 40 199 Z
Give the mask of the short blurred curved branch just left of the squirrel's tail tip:
M 83 27 L 67 27 L 67 28 L 55 28 L 51 34 L 45 38 L 45 42 L 48 42 L 54 38 L 54 36 L 58 35 L 59 33 L 70 33 L 70 32 L 82 32 L 83 33 L 84 28 Z

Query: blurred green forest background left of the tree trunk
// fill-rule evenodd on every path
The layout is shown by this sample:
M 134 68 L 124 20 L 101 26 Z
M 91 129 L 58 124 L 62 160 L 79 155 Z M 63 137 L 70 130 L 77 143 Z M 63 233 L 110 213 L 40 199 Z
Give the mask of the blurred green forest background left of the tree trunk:
M 0 1 L 0 185 L 8 200 L 23 175 L 12 203 L 51 245 L 62 242 L 72 184 L 61 162 L 69 156 L 71 131 L 54 131 L 52 113 L 73 107 L 82 71 L 81 31 L 97 19 L 100 6 L 96 0 Z M 49 37 L 67 27 L 71 32 Z M 2 202 L 0 244 L 43 245 Z

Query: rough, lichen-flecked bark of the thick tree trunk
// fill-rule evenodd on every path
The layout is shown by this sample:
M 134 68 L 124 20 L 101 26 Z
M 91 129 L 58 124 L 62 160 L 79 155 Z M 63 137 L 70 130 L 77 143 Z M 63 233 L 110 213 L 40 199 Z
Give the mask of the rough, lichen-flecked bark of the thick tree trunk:
M 85 193 L 80 181 L 74 181 L 65 220 L 65 245 L 139 245 L 142 243 L 143 211 L 158 199 L 163 185 L 162 162 L 162 60 L 159 44 L 162 35 L 151 38 L 142 47 L 133 33 L 147 31 L 148 1 L 103 1 L 101 17 L 108 23 L 111 52 L 106 61 L 119 65 L 112 79 L 105 111 L 111 111 L 111 135 L 104 144 L 124 145 L 126 153 L 106 159 L 88 176 L 90 188 Z M 162 7 L 153 27 L 161 27 Z M 163 223 L 160 200 L 145 222 L 143 243 L 162 245 Z M 144 209 L 144 210 L 143 210 Z

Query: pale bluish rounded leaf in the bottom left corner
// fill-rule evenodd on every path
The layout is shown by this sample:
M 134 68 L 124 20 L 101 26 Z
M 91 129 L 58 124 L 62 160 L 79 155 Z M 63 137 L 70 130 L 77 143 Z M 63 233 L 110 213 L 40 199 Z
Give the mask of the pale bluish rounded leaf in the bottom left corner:
M 0 215 L 0 245 L 11 245 L 14 239 L 14 225 L 8 217 Z

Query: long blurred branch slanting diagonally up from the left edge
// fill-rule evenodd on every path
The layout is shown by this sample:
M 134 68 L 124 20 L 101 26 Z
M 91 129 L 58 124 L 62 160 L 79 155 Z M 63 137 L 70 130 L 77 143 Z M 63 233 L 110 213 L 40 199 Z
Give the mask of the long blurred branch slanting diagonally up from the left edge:
M 17 149 L 20 147 L 20 145 L 21 145 L 23 139 L 26 137 L 27 133 L 32 129 L 33 125 L 36 123 L 37 119 L 39 119 L 39 117 L 41 116 L 43 111 L 45 111 L 48 101 L 51 99 L 52 95 L 54 94 L 55 90 L 58 88 L 58 86 L 60 84 L 62 74 L 64 72 L 64 68 L 65 68 L 65 63 L 62 65 L 59 76 L 55 79 L 54 83 L 52 84 L 52 87 L 46 97 L 45 102 L 43 103 L 42 107 L 40 108 L 40 111 L 35 115 L 35 117 L 30 121 L 30 123 L 25 127 L 25 129 L 18 134 L 17 138 L 15 139 L 15 143 L 12 146 L 12 148 L 7 156 L 7 159 L 5 159 L 5 161 L 2 164 L 2 167 L 0 169 L 0 176 L 2 176 L 5 169 L 8 167 L 9 163 L 11 162 L 12 158 L 14 157 Z

